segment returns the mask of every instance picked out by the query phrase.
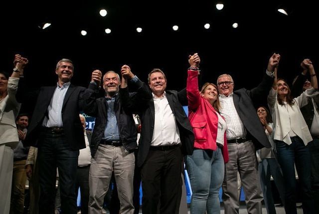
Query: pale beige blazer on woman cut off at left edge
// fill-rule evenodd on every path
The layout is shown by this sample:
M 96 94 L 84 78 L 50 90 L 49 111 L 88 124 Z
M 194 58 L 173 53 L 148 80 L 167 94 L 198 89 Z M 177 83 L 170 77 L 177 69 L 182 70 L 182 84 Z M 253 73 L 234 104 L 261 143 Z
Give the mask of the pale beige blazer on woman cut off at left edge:
M 14 149 L 19 142 L 15 118 L 21 104 L 15 99 L 19 78 L 9 77 L 7 95 L 0 101 L 0 145 Z

